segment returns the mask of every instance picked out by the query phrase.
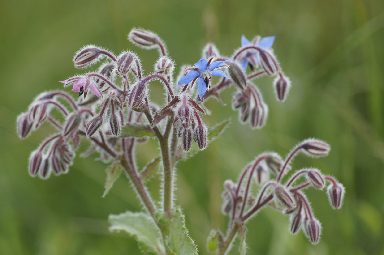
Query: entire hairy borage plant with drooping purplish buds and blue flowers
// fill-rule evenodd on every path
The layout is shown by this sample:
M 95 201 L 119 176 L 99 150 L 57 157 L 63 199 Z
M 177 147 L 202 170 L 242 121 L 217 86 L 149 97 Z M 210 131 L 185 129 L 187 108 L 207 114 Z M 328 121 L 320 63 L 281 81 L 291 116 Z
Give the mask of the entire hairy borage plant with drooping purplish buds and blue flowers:
M 268 107 L 252 80 L 263 74 L 276 76 L 273 86 L 281 102 L 285 100 L 290 81 L 271 49 L 273 36 L 257 36 L 252 42 L 243 36 L 242 47 L 235 50 L 231 58 L 222 56 L 213 44 L 208 44 L 203 49 L 202 59 L 194 66 L 181 67 L 176 83 L 173 79 L 175 64 L 159 36 L 151 31 L 132 29 L 128 38 L 141 48 L 159 51 L 154 72 L 143 75 L 136 53 L 123 51 L 116 57 L 106 49 L 87 45 L 75 54 L 74 65 L 82 69 L 104 59 L 98 71 L 61 81 L 64 87 L 73 86 L 78 100 L 62 91 L 44 92 L 36 97 L 28 111 L 19 115 L 17 130 L 21 139 L 46 121 L 58 130 L 31 153 L 29 173 L 42 179 L 52 173 L 67 173 L 80 137 L 84 137 L 91 145 L 81 156 L 97 151 L 101 155 L 99 160 L 111 164 L 106 169 L 103 196 L 125 171 L 145 208 L 144 212 L 111 215 L 110 230 L 128 232 L 146 254 L 197 254 L 197 247 L 185 228 L 184 215 L 180 207 L 174 205 L 174 169 L 179 160 L 204 150 L 229 123 L 224 120 L 208 132 L 202 121 L 202 115 L 208 112 L 204 101 L 213 95 L 222 103 L 220 92 L 234 85 L 237 91 L 233 94 L 232 105 L 239 110 L 240 121 L 249 122 L 252 128 L 261 128 Z M 248 65 L 251 74 L 246 74 Z M 211 87 L 212 76 L 222 78 Z M 154 80 L 164 84 L 166 104 L 161 108 L 151 103 L 147 94 L 147 87 Z M 54 108 L 64 116 L 63 121 L 54 117 L 51 112 Z M 161 155 L 138 171 L 135 145 L 149 137 L 157 140 Z M 225 254 L 238 235 L 241 239 L 239 251 L 245 254 L 245 223 L 267 205 L 291 217 L 292 233 L 301 228 L 312 243 L 317 243 L 321 225 L 303 190 L 310 186 L 323 189 L 328 181 L 329 201 L 337 210 L 343 201 L 343 186 L 314 168 L 298 170 L 284 183 L 283 179 L 299 152 L 318 157 L 327 155 L 329 149 L 327 143 L 309 139 L 299 143 L 285 160 L 273 152 L 262 153 L 242 171 L 237 183 L 225 181 L 222 211 L 230 216 L 228 232 L 223 236 L 219 230 L 212 230 L 207 241 L 208 250 Z M 145 186 L 157 169 L 162 171 L 160 203 L 153 201 Z M 306 181 L 297 183 L 303 179 L 301 176 L 305 176 Z M 257 196 L 251 194 L 253 183 L 263 185 Z

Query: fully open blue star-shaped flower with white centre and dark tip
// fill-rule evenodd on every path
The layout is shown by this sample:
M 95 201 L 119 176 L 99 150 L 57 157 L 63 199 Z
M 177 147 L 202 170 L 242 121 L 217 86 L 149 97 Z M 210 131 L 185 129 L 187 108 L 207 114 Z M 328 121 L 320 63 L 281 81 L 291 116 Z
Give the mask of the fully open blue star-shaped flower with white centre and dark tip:
M 227 79 L 230 79 L 227 77 L 225 72 L 221 70 L 215 70 L 218 67 L 222 67 L 225 62 L 228 63 L 233 63 L 232 61 L 212 61 L 213 58 L 210 58 L 209 61 L 207 59 L 202 58 L 195 64 L 196 68 L 192 69 L 189 71 L 189 73 L 182 77 L 177 84 L 182 85 L 182 84 L 189 84 L 189 82 L 193 81 L 194 79 L 197 78 L 197 92 L 199 93 L 200 99 L 203 98 L 203 95 L 205 94 L 205 91 L 207 89 L 209 90 L 210 86 L 210 81 L 211 81 L 211 76 L 222 76 Z

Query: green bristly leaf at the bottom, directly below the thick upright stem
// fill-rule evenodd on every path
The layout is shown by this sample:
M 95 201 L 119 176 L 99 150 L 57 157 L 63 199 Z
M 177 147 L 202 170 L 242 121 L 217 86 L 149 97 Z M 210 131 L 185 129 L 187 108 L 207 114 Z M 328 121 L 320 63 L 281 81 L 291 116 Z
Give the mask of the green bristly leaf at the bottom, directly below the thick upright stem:
M 180 207 L 172 209 L 170 216 L 166 213 L 158 213 L 156 216 L 159 224 L 162 224 L 161 231 L 166 236 L 165 243 L 169 251 L 177 255 L 197 255 L 195 242 L 188 235 Z

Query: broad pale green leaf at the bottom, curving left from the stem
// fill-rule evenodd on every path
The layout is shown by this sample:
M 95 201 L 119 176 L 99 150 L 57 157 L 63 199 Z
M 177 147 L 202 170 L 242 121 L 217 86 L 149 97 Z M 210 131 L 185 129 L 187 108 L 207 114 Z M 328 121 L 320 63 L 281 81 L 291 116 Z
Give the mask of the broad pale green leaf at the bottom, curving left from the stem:
M 155 222 L 144 212 L 126 212 L 109 215 L 109 231 L 126 231 L 139 243 L 139 248 L 148 255 L 165 254 L 162 237 Z

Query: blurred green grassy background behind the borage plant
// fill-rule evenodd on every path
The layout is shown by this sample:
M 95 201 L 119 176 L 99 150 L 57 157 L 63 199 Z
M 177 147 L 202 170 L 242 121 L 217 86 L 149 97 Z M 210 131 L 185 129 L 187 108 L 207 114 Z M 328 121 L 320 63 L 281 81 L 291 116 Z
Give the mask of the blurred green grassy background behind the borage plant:
M 288 99 L 280 104 L 273 78 L 257 85 L 270 114 L 262 130 L 240 125 L 230 106 L 234 88 L 221 106 L 209 100 L 210 126 L 228 116 L 232 124 L 207 150 L 178 165 L 177 204 L 184 208 L 189 233 L 207 254 L 210 229 L 227 227 L 220 212 L 225 179 L 235 180 L 256 155 L 286 155 L 298 141 L 328 141 L 328 157 L 298 156 L 294 168 L 318 167 L 346 186 L 344 206 L 334 212 L 324 192 L 308 190 L 323 237 L 311 245 L 300 232 L 289 233 L 288 217 L 267 208 L 248 222 L 248 254 L 384 254 L 384 2 L 382 0 L 12 0 L 0 1 L 0 254 L 140 254 L 126 234 L 108 232 L 107 218 L 140 211 L 125 176 L 105 198 L 105 165 L 77 157 L 68 174 L 47 181 L 31 178 L 30 151 L 53 129 L 44 125 L 24 141 L 15 119 L 35 95 L 60 89 L 73 67 L 74 52 L 97 44 L 118 54 L 132 49 L 147 72 L 156 51 L 126 40 L 132 27 L 157 32 L 178 66 L 195 63 L 209 41 L 230 55 L 242 34 L 275 35 L 275 53 L 291 78 Z M 161 103 L 162 86 L 151 85 Z M 69 91 L 69 90 L 68 90 Z M 83 141 L 79 151 L 88 143 Z M 150 141 L 137 148 L 138 164 L 158 153 Z M 155 198 L 159 181 L 152 179 Z M 238 254 L 237 246 L 230 254 Z

